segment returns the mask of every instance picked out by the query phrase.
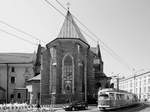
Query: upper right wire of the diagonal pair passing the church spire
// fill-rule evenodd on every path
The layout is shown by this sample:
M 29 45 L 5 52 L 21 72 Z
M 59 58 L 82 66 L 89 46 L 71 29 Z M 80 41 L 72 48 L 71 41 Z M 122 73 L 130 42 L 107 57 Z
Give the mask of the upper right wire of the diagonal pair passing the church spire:
M 58 0 L 55 0 L 63 9 L 65 9 L 65 10 L 68 10 L 67 8 L 65 8 Z M 111 56 L 112 56 L 112 54 L 114 54 L 115 55 L 115 57 L 116 57 L 116 59 L 118 60 L 118 58 L 119 58 L 119 60 L 121 61 L 121 62 L 123 62 L 124 64 L 125 64 L 125 66 L 127 66 L 127 68 L 129 69 L 129 70 L 131 70 L 131 68 L 133 68 L 133 67 L 131 67 L 131 66 L 129 66 L 129 64 L 123 59 L 123 58 L 121 58 L 114 50 L 112 50 L 110 47 L 108 47 L 108 45 L 106 45 L 100 38 L 98 38 L 97 37 L 97 35 L 95 35 L 86 25 L 84 25 L 77 17 L 75 17 L 74 15 L 72 15 L 84 28 L 86 28 L 86 30 L 90 33 L 90 34 L 92 34 L 97 40 L 99 40 L 105 47 L 106 47 L 106 49 L 108 49 L 111 53 L 109 53 L 109 54 L 111 54 Z M 85 32 L 83 32 L 83 33 L 85 33 Z M 87 33 L 85 33 L 87 36 L 89 36 Z M 91 36 L 90 36 L 91 37 Z M 95 39 L 93 39 L 93 40 L 95 40 Z

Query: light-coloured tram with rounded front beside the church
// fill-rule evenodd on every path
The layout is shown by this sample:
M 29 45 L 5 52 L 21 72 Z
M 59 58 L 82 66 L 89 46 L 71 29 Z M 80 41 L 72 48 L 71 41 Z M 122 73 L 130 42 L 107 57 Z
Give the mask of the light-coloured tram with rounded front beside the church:
M 110 110 L 138 104 L 137 95 L 115 88 L 98 91 L 98 109 Z

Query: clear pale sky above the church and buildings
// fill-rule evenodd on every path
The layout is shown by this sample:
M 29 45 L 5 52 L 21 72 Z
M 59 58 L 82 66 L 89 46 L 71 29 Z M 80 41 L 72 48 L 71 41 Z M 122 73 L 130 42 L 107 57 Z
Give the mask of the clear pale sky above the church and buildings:
M 66 8 L 69 2 L 70 12 L 98 37 L 96 40 L 92 36 L 93 41 L 83 33 L 91 46 L 96 47 L 98 40 L 105 43 L 99 42 L 106 75 L 129 76 L 150 70 L 150 0 L 57 1 Z M 66 15 L 56 0 L 49 2 Z M 57 37 L 63 21 L 64 16 L 45 0 L 0 0 L 0 52 L 33 53 L 37 50 L 36 44 L 45 46 Z

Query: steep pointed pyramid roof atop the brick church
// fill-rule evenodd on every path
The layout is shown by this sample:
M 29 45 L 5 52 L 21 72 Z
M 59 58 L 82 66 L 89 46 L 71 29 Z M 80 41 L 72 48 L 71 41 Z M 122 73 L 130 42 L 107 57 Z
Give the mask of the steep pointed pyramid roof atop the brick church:
M 57 38 L 80 38 L 87 43 L 69 11 L 67 12 L 64 23 Z

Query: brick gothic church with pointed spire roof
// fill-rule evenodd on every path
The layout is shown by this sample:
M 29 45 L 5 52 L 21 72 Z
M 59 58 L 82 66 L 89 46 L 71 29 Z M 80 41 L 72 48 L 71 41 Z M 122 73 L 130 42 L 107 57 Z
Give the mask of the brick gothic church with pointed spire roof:
M 90 47 L 70 11 L 57 38 L 41 55 L 40 103 L 94 103 L 99 88 L 109 87 L 99 44 Z

